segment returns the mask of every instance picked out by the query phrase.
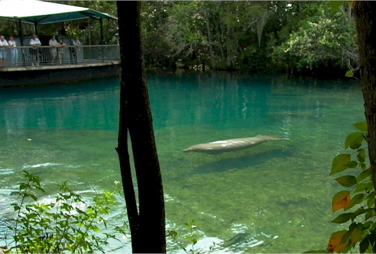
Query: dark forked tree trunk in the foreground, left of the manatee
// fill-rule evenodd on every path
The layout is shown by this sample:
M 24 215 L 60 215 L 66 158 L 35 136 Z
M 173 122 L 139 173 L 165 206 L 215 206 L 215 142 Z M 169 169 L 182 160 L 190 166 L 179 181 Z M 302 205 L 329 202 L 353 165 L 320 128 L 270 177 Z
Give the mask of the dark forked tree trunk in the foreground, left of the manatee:
M 140 35 L 140 2 L 117 1 L 121 54 L 119 154 L 133 253 L 165 253 L 165 205 Z M 139 207 L 128 153 L 132 143 Z

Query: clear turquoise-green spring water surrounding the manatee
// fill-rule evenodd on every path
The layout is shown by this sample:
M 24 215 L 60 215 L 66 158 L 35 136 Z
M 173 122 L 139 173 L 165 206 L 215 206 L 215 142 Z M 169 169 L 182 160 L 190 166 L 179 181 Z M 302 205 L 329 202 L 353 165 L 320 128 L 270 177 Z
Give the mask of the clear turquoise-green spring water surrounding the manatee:
M 12 216 L 10 192 L 23 169 L 40 176 L 49 192 L 68 180 L 90 196 L 120 180 L 118 83 L 1 89 L 3 218 Z M 148 87 L 167 229 L 184 235 L 184 223 L 195 220 L 198 248 L 207 251 L 214 241 L 213 253 L 326 248 L 330 233 L 341 227 L 329 222 L 331 196 L 340 190 L 329 177 L 331 160 L 354 130 L 351 124 L 364 121 L 359 84 L 218 73 L 149 74 Z M 285 139 L 226 154 L 182 152 L 261 133 Z M 108 219 L 124 216 L 119 206 Z M 182 252 L 170 240 L 167 249 Z M 129 238 L 111 242 L 108 252 L 129 253 Z

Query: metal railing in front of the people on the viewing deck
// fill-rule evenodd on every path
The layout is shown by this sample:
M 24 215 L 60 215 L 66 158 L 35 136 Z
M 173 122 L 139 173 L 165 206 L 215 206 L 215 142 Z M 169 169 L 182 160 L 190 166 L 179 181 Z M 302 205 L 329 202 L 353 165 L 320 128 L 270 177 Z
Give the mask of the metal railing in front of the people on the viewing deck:
M 6 47 L 3 50 L 3 67 L 79 65 L 120 60 L 119 45 Z

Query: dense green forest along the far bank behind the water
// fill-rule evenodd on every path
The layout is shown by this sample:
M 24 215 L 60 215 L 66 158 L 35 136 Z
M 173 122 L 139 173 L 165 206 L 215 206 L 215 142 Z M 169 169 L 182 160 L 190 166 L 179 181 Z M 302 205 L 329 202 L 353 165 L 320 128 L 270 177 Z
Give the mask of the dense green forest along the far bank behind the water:
M 116 1 L 53 1 L 117 16 Z M 1 21 L 0 34 L 18 35 Z M 104 44 L 119 42 L 117 21 L 104 21 Z M 23 25 L 23 34 L 32 34 Z M 39 36 L 100 41 L 99 22 L 42 25 Z M 342 78 L 359 69 L 349 5 L 333 14 L 328 1 L 142 1 L 141 35 L 147 69 L 290 73 Z

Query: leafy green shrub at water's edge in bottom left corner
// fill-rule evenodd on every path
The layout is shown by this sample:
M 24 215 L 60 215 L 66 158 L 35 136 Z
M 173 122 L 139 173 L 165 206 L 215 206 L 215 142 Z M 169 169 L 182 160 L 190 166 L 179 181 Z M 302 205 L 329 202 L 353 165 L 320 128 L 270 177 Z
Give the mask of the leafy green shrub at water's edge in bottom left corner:
M 51 202 L 38 200 L 37 194 L 45 193 L 40 178 L 23 170 L 26 183 L 19 184 L 14 192 L 21 198 L 13 203 L 16 212 L 8 229 L 12 241 L 8 243 L 10 251 L 16 253 L 104 253 L 109 239 L 117 240 L 116 233 L 125 234 L 124 229 L 115 227 L 113 233 L 98 235 L 99 226 L 108 228 L 105 216 L 116 205 L 115 192 L 104 190 L 86 204 L 82 196 L 75 194 L 64 182 Z M 32 203 L 28 203 L 28 201 Z M 84 209 L 84 206 L 86 206 Z M 8 237 L 5 235 L 5 238 Z M 8 240 L 8 239 L 7 239 Z

